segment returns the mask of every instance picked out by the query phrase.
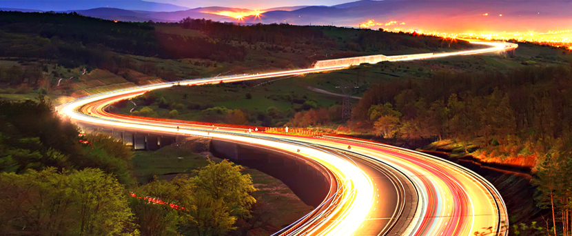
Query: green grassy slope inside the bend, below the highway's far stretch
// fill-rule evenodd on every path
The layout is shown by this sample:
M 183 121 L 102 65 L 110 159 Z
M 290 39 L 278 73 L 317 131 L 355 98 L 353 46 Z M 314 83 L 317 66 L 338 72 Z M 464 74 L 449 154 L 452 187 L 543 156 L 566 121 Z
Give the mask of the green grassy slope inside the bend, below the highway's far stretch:
M 268 79 L 264 81 L 249 81 L 242 84 L 222 86 L 192 86 L 183 88 L 169 88 L 152 92 L 156 97 L 165 97 L 167 101 L 176 101 L 184 105 L 178 109 L 176 119 L 193 121 L 224 121 L 223 117 L 205 117 L 200 110 L 187 109 L 188 104 L 212 104 L 212 106 L 225 106 L 229 109 L 248 109 L 252 113 L 263 112 L 274 106 L 278 110 L 287 112 L 292 108 L 299 108 L 294 104 L 281 99 L 284 96 L 304 98 L 316 101 L 321 107 L 340 104 L 341 97 L 324 95 L 308 90 L 307 87 L 320 88 L 334 93 L 342 93 L 340 86 L 354 86 L 354 96 L 361 96 L 371 84 L 394 79 L 428 79 L 433 73 L 447 70 L 456 72 L 506 72 L 519 68 L 524 64 L 539 66 L 558 65 L 572 59 L 572 53 L 562 55 L 562 50 L 523 44 L 518 48 L 515 57 L 490 53 L 487 55 L 473 55 L 462 57 L 449 57 L 425 61 L 384 62 L 376 65 L 364 64 L 349 70 L 305 75 L 286 79 Z M 247 93 L 252 99 L 246 99 Z M 186 99 L 184 98 L 186 96 Z M 129 114 L 132 104 L 116 112 Z M 136 110 L 143 108 L 139 106 Z M 151 106 L 160 117 L 167 117 L 169 109 Z M 259 124 L 252 121 L 251 124 Z M 277 122 L 280 125 L 283 122 Z

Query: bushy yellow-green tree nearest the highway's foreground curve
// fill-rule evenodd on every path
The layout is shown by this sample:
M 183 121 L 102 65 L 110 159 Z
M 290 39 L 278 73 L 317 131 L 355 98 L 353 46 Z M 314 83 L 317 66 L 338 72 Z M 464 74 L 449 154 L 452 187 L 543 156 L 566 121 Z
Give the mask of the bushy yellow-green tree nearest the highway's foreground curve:
M 132 202 L 135 221 L 144 235 L 163 235 L 178 224 L 181 233 L 225 235 L 234 230 L 238 219 L 250 217 L 256 202 L 251 193 L 252 178 L 243 175 L 242 166 L 229 161 L 210 164 L 195 171 L 194 177 L 178 175 L 173 181 L 155 179 L 142 186 L 142 194 L 181 206 L 173 211 L 163 206 Z M 173 215 L 177 214 L 177 216 Z

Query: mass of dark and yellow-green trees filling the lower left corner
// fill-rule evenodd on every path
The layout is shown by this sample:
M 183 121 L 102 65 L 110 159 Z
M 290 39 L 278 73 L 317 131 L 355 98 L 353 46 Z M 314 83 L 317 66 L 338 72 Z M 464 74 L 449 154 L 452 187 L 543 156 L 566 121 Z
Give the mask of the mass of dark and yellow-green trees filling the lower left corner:
M 255 188 L 241 166 L 211 161 L 173 181 L 141 185 L 132 157 L 108 135 L 80 135 L 43 97 L 0 101 L 0 232 L 240 235 L 249 227 Z

